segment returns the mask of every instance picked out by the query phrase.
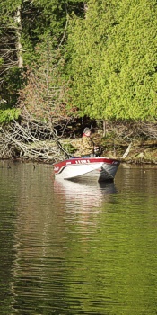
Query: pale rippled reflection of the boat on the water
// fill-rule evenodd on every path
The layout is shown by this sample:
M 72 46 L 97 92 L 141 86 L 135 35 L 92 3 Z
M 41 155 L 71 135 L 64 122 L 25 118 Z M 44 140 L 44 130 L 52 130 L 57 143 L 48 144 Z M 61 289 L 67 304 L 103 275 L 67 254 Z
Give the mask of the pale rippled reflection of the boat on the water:
M 57 196 L 65 201 L 66 207 L 80 211 L 98 209 L 102 202 L 109 202 L 111 196 L 118 193 L 114 182 L 98 183 L 96 181 L 74 182 L 55 180 L 54 189 Z

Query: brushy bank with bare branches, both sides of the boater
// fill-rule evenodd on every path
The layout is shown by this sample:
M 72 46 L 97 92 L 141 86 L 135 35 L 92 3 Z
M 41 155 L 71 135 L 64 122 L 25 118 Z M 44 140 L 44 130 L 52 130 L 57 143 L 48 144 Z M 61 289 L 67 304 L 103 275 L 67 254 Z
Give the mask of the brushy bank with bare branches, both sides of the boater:
M 82 133 L 66 130 L 57 135 L 47 125 L 28 125 L 28 121 L 1 128 L 0 160 L 18 160 L 53 164 L 74 156 L 80 148 Z M 78 128 L 80 126 L 76 126 Z M 106 134 L 95 128 L 92 140 L 100 148 L 100 157 L 120 159 L 126 164 L 157 164 L 156 123 L 134 121 L 108 121 Z M 125 158 L 124 158 L 125 157 Z

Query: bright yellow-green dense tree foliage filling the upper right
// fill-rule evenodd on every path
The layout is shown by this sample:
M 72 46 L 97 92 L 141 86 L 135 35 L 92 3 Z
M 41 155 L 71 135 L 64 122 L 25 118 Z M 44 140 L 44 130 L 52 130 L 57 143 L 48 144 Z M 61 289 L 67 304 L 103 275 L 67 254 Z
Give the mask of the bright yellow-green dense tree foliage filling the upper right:
M 69 34 L 71 98 L 80 114 L 150 120 L 157 114 L 153 0 L 91 0 Z

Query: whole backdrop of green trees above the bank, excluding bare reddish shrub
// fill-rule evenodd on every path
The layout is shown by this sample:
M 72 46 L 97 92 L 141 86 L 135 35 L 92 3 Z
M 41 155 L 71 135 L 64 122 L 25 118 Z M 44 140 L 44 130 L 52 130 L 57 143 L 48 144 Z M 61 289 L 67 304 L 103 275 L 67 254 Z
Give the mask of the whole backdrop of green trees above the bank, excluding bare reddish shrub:
M 54 71 L 49 72 L 49 82 L 62 90 L 60 103 L 69 112 L 76 109 L 78 116 L 104 120 L 155 119 L 156 4 L 156 0 L 2 0 L 0 99 L 7 106 L 1 111 L 17 105 L 25 68 L 29 66 L 37 79 L 40 76 L 49 38 L 49 67 L 57 68 L 55 80 Z M 46 58 L 44 63 L 46 73 Z M 45 77 L 45 91 L 47 81 Z M 53 99 L 57 102 L 57 96 Z M 43 107 L 43 102 L 39 105 Z

